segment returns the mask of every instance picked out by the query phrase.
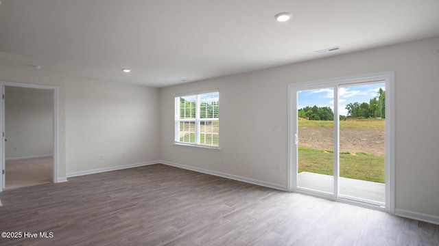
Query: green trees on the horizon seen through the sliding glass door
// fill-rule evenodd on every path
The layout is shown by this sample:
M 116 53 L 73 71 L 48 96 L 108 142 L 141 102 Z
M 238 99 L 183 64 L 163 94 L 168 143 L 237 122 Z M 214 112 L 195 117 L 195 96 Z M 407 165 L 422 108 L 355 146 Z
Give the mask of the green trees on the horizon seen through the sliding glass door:
M 344 118 L 385 118 L 385 91 L 379 88 L 378 95 L 368 102 L 351 102 L 346 105 L 348 115 L 340 115 Z M 298 109 L 298 117 L 308 120 L 333 120 L 334 113 L 330 107 L 304 107 Z

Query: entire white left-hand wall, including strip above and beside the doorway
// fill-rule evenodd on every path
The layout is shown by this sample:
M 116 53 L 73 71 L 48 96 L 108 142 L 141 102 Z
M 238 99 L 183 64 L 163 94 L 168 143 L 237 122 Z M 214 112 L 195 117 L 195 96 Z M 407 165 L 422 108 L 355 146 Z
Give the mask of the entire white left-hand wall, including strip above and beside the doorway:
M 58 180 L 72 172 L 160 159 L 158 89 L 79 79 L 3 60 L 0 81 L 58 87 Z

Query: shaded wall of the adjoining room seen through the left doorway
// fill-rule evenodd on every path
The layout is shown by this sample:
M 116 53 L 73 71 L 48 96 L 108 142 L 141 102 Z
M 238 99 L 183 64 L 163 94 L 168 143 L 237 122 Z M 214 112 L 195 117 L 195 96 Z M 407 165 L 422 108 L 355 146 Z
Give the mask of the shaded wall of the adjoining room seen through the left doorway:
M 53 92 L 6 86 L 4 93 L 5 159 L 53 154 Z

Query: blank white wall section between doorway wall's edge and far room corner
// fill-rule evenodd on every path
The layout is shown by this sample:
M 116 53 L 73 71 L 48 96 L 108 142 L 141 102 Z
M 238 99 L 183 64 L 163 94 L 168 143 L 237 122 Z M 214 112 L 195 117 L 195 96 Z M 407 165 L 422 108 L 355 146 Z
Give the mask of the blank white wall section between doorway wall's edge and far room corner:
M 67 78 L 67 174 L 160 159 L 158 96 L 151 87 Z

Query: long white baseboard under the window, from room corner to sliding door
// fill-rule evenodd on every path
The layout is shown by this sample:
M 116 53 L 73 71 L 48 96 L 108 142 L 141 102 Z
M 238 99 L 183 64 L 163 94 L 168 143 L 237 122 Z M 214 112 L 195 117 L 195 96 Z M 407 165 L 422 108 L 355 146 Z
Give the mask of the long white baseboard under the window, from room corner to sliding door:
M 236 176 L 236 175 L 233 175 L 233 174 L 225 174 L 225 173 L 222 173 L 222 172 L 211 171 L 211 170 L 202 169 L 202 168 L 199 168 L 199 167 L 191 167 L 191 166 L 188 166 L 188 165 L 182 165 L 182 164 L 178 164 L 178 163 L 171 163 L 169 161 L 158 161 L 157 163 L 161 163 L 161 164 L 165 164 L 165 165 L 170 165 L 172 167 L 178 167 L 178 168 L 182 168 L 182 169 L 188 169 L 188 170 L 191 170 L 193 172 L 200 172 L 200 173 L 203 173 L 203 174 L 210 174 L 210 175 L 219 176 L 219 177 L 222 177 L 222 178 L 238 180 L 238 181 L 241 181 L 241 182 L 248 182 L 250 184 L 256 184 L 256 185 L 259 185 L 259 186 L 268 187 L 268 188 L 272 188 L 272 189 L 278 189 L 278 190 L 281 190 L 281 191 L 287 191 L 287 187 L 284 186 L 284 185 L 281 185 L 281 184 L 273 184 L 271 182 L 255 180 L 255 179 L 252 179 L 252 178 L 245 178 L 245 177 Z

